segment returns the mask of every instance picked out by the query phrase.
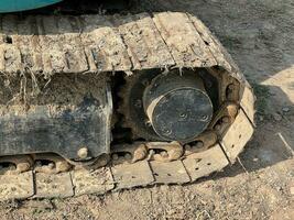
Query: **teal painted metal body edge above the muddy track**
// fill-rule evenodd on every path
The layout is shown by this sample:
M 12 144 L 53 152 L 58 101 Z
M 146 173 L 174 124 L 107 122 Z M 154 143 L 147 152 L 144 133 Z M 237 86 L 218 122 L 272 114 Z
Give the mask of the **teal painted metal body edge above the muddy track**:
M 0 0 L 0 13 L 37 9 L 59 1 L 63 0 Z

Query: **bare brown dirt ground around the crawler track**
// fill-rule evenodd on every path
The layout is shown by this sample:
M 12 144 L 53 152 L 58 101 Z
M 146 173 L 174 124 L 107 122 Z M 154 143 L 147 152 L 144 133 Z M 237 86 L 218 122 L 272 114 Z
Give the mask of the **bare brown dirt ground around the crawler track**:
M 1 219 L 294 219 L 293 0 L 157 1 L 199 16 L 253 85 L 257 131 L 240 163 L 193 185 L 4 202 Z

